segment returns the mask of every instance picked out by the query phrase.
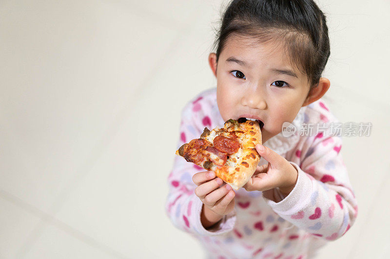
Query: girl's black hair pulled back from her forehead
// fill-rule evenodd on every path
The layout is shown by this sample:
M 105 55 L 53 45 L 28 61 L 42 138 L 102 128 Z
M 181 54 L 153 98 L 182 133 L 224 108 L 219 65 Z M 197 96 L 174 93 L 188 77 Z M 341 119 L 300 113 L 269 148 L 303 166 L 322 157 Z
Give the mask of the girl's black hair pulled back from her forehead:
M 326 17 L 313 0 L 232 0 L 216 32 L 216 62 L 233 35 L 285 44 L 290 63 L 307 75 L 310 90 L 331 54 Z

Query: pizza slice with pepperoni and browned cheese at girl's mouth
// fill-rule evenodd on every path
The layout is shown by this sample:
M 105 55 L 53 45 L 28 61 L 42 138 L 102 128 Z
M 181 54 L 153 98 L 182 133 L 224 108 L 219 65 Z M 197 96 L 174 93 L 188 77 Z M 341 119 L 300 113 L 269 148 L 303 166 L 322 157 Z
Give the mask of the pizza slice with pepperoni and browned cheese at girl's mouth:
M 254 174 L 260 155 L 254 148 L 262 144 L 257 121 L 230 119 L 222 128 L 204 128 L 200 138 L 183 144 L 176 155 L 192 162 L 229 184 L 234 190 L 244 186 Z M 262 122 L 260 122 L 262 124 Z

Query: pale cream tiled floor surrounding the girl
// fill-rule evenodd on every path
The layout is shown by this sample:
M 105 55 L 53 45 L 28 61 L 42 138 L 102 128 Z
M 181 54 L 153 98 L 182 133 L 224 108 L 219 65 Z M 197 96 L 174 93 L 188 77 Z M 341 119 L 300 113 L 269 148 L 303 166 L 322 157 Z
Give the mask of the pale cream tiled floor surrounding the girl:
M 180 111 L 216 86 L 221 3 L 0 1 L 0 258 L 203 257 L 164 204 Z M 317 3 L 331 111 L 372 123 L 343 138 L 357 220 L 318 258 L 390 258 L 390 3 Z

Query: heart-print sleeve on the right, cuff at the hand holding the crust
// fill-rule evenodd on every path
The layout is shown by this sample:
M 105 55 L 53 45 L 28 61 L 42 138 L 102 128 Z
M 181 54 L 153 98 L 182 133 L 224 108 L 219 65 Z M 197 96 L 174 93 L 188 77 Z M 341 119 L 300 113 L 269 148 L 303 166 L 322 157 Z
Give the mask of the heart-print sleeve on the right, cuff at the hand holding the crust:
M 331 136 L 329 127 L 308 138 L 302 153 L 294 189 L 287 197 L 274 189 L 276 202 L 266 199 L 280 217 L 321 239 L 343 236 L 355 222 L 357 202 L 343 162 L 342 139 Z

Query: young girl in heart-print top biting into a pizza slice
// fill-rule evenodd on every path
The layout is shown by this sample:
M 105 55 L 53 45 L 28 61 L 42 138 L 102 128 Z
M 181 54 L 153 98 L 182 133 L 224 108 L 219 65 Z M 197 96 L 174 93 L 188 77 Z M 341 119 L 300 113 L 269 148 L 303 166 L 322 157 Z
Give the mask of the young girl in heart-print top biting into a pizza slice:
M 177 148 L 204 127 L 252 118 L 264 123 L 261 159 L 234 191 L 176 156 L 167 215 L 210 259 L 312 258 L 357 216 L 338 121 L 321 99 L 330 86 L 321 77 L 330 55 L 325 16 L 312 0 L 233 0 L 215 45 L 217 87 L 184 107 Z

